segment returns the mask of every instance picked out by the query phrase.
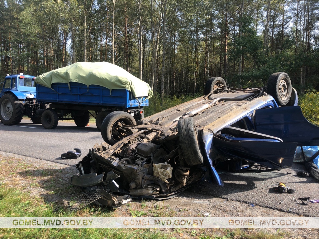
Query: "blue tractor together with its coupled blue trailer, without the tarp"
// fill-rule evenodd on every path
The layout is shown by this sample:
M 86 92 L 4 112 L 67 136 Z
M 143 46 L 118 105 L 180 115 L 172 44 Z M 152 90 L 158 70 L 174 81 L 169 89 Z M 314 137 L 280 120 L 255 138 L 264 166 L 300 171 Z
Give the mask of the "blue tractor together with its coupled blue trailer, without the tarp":
M 148 96 L 133 97 L 127 89 L 110 91 L 100 85 L 78 82 L 52 83 L 49 88 L 34 84 L 34 78 L 23 74 L 5 77 L 0 98 L 0 119 L 4 125 L 17 125 L 27 115 L 46 129 L 54 129 L 59 120 L 74 120 L 78 127 L 85 127 L 93 111 L 99 130 L 113 112 L 110 118 L 117 119 L 112 125 L 114 129 L 118 122 L 136 124 L 144 118 L 143 107 L 149 104 Z

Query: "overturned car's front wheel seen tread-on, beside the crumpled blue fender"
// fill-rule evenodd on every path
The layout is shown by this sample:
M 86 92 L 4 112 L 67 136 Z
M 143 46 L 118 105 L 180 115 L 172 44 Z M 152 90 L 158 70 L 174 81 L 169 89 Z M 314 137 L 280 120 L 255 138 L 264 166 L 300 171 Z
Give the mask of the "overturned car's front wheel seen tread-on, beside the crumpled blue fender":
M 185 161 L 188 165 L 204 162 L 198 145 L 198 132 L 193 118 L 180 119 L 177 122 L 178 138 Z

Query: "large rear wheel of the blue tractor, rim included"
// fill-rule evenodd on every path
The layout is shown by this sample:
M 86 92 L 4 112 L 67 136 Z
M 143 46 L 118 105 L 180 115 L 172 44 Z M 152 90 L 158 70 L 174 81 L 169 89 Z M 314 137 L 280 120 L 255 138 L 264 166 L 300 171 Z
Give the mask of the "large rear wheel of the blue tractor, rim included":
M 17 125 L 23 117 L 23 102 L 11 93 L 0 100 L 0 119 L 4 125 Z

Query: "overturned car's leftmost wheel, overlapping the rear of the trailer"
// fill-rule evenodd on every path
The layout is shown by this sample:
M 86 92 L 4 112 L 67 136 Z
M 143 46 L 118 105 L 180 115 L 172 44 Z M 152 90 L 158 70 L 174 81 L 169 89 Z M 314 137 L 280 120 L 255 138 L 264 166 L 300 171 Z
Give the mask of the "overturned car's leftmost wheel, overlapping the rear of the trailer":
M 117 126 L 118 122 L 122 122 L 126 125 L 136 125 L 136 121 L 133 116 L 127 112 L 114 111 L 109 113 L 108 116 L 103 120 L 101 126 L 101 135 L 103 140 L 110 145 L 113 145 L 122 138 L 130 135 L 129 132 L 126 132 L 126 130 Z

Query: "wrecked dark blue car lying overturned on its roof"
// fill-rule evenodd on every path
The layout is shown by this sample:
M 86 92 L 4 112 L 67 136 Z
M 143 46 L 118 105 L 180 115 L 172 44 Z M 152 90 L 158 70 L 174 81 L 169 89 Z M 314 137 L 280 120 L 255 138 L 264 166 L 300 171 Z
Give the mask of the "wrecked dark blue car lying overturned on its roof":
M 102 205 L 119 206 L 128 195 L 164 199 L 202 180 L 223 186 L 219 165 L 227 163 L 234 172 L 254 163 L 287 168 L 297 146 L 319 145 L 319 127 L 303 116 L 286 73 L 252 89 L 227 87 L 212 77 L 205 94 L 137 125 L 130 125 L 130 115 L 109 114 L 103 124 L 111 127 L 102 125 L 101 131 L 106 143 L 76 165 L 71 184 L 98 191 L 96 203 Z

